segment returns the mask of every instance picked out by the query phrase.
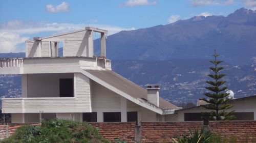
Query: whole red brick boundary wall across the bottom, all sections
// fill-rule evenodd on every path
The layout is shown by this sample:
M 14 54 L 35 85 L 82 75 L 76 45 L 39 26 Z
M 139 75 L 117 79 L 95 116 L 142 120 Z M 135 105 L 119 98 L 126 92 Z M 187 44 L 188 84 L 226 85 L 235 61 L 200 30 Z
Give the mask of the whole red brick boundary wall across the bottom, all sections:
M 136 136 L 138 137 L 135 122 L 90 124 L 99 127 L 99 133 L 113 142 L 115 142 L 114 138 L 120 138 L 134 143 Z M 0 125 L 0 139 L 10 136 L 22 125 L 24 124 Z M 189 129 L 200 129 L 202 125 L 203 122 L 142 122 L 139 136 L 141 142 L 168 142 L 172 137 L 189 134 Z M 237 142 L 256 142 L 256 121 L 210 121 L 208 127 L 212 132 L 226 137 L 236 136 Z

